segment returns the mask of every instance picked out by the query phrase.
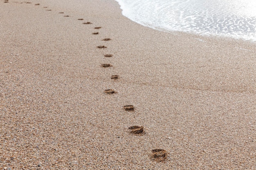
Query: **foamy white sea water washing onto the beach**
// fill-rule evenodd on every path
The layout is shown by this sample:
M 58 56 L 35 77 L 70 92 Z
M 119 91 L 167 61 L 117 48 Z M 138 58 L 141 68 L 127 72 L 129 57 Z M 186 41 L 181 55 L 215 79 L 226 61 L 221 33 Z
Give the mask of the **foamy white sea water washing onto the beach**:
M 122 14 L 160 31 L 256 41 L 256 0 L 116 0 Z

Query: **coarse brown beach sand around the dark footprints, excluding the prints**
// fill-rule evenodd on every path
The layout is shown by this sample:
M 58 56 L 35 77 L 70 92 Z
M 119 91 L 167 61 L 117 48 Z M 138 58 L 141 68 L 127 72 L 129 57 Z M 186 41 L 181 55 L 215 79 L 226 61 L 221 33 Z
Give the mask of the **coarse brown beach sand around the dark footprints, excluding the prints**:
M 0 1 L 0 169 L 256 169 L 255 43 L 156 31 L 113 0 L 21 2 Z

